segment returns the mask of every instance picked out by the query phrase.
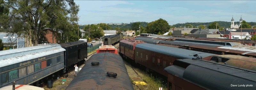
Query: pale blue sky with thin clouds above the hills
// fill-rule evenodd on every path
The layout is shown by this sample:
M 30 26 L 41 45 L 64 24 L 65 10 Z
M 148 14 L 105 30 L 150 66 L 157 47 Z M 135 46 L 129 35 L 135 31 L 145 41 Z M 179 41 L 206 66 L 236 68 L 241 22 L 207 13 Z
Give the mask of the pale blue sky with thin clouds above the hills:
M 169 25 L 186 22 L 256 22 L 256 1 L 208 0 L 75 0 L 80 7 L 79 25 L 98 23 L 152 22 L 166 20 Z

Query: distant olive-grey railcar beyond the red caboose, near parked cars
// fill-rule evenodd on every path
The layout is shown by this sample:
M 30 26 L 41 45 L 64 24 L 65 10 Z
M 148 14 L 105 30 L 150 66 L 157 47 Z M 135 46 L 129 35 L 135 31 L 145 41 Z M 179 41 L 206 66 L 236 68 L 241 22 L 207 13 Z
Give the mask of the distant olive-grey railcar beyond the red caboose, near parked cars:
M 102 38 L 104 45 L 114 45 L 123 39 L 123 34 L 107 35 Z

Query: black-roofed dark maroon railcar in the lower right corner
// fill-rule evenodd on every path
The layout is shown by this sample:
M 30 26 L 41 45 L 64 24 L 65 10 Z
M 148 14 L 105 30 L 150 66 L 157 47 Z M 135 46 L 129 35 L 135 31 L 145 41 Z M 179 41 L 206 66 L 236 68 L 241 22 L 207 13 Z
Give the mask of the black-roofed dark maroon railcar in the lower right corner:
M 256 72 L 199 59 L 178 59 L 168 72 L 168 90 L 255 90 Z

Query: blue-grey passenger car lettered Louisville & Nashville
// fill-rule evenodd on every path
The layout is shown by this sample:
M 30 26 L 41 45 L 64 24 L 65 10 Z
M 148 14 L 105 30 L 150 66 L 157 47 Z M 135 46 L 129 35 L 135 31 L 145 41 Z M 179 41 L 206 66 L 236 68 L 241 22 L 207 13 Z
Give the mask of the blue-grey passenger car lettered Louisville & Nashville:
M 58 44 L 0 51 L 0 87 L 30 85 L 64 68 L 65 49 Z

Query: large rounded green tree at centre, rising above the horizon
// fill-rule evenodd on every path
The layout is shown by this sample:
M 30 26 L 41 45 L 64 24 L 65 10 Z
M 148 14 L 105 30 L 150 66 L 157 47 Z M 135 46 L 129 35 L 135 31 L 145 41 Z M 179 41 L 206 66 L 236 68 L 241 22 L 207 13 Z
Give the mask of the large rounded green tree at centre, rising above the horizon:
M 146 29 L 150 34 L 164 34 L 170 30 L 170 26 L 166 20 L 160 18 L 148 23 Z

